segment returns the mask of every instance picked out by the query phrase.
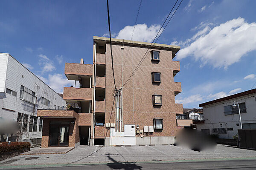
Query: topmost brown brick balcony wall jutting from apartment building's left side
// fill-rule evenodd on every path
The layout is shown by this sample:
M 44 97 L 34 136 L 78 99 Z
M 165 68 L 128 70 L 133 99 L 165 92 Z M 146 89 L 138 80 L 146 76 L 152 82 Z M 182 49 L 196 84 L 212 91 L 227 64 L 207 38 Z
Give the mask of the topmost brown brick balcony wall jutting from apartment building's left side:
M 65 63 L 65 74 L 93 75 L 93 65 L 80 63 Z

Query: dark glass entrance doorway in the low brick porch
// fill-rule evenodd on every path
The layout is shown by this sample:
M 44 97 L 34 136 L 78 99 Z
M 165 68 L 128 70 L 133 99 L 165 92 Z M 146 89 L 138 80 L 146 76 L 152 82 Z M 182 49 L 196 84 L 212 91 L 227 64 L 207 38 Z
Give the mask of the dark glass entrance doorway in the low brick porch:
M 68 147 L 69 121 L 51 121 L 49 147 Z

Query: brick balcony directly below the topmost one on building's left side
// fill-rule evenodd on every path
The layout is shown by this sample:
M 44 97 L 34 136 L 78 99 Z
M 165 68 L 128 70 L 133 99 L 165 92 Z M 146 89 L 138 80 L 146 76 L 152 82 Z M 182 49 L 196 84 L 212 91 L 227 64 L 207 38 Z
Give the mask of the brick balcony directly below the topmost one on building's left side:
M 63 99 L 68 103 L 92 100 L 91 88 L 64 87 Z

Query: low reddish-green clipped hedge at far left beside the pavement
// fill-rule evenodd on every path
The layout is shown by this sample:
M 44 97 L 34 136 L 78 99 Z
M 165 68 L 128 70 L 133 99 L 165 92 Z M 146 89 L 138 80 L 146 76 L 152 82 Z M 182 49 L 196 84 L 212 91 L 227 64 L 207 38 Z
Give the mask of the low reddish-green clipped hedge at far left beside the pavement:
M 11 142 L 11 144 L 8 144 L 8 142 L 1 142 L 0 143 L 0 154 L 11 153 L 13 151 L 23 150 L 26 148 L 27 149 L 30 148 L 29 142 Z

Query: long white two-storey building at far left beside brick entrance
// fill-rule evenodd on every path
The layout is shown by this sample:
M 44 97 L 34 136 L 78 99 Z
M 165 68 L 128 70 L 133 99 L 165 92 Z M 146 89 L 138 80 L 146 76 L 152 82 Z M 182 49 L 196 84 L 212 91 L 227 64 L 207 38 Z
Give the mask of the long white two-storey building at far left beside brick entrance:
M 65 109 L 66 101 L 11 55 L 0 53 L 0 60 L 0 118 L 18 121 L 22 130 L 9 140 L 41 144 L 43 118 L 37 110 Z

